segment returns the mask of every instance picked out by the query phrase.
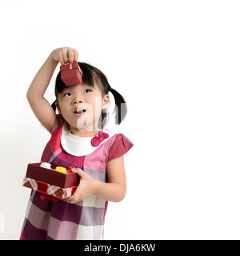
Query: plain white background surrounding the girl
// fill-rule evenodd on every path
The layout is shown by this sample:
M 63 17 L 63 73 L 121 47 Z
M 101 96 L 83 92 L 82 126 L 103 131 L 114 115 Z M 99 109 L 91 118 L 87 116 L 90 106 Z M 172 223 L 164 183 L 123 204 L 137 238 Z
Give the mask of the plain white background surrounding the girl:
M 105 239 L 239 239 L 239 13 L 230 0 L 1 1 L 0 238 L 19 238 L 22 178 L 50 138 L 26 90 L 52 50 L 72 46 L 129 108 L 108 126 L 134 147 Z

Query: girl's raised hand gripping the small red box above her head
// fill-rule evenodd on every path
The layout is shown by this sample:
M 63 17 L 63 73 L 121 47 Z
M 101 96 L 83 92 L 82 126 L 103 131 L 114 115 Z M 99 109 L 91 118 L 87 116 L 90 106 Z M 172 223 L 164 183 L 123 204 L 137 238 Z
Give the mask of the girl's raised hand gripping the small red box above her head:
M 52 58 L 61 65 L 67 62 L 78 62 L 78 51 L 71 47 L 62 47 L 51 52 Z

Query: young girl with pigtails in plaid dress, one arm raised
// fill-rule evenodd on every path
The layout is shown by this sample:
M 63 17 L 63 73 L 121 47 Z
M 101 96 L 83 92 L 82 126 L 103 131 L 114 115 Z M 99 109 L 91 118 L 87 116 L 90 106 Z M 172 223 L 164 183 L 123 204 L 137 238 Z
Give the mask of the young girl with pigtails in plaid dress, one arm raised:
M 27 99 L 51 134 L 41 162 L 74 166 L 80 182 L 70 198 L 57 202 L 42 200 L 32 190 L 21 239 L 102 239 L 108 201 L 120 202 L 125 197 L 123 154 L 133 146 L 123 134 L 103 129 L 109 92 L 114 95 L 118 124 L 126 116 L 126 102 L 100 70 L 78 62 L 82 83 L 65 86 L 59 72 L 56 101 L 51 106 L 43 95 L 58 62 L 78 62 L 78 52 L 70 47 L 52 51 L 31 83 Z

